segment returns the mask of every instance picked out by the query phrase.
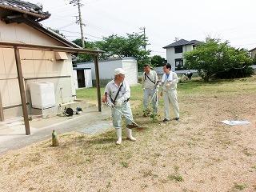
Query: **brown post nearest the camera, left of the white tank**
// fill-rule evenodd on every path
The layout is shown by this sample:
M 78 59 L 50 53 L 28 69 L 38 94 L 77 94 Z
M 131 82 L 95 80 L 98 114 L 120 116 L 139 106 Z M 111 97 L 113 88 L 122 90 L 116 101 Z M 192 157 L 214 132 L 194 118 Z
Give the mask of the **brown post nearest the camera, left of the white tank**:
M 19 49 L 16 46 L 14 46 L 14 53 L 15 53 L 16 67 L 17 67 L 17 73 L 18 73 L 19 91 L 20 91 L 21 100 L 22 100 L 22 111 L 23 111 L 23 118 L 25 123 L 25 130 L 26 130 L 26 135 L 29 135 L 30 122 L 29 122 L 28 111 L 26 108 L 26 92 L 25 92 L 24 79 L 22 74 L 22 63 L 21 63 L 21 58 L 19 54 Z

